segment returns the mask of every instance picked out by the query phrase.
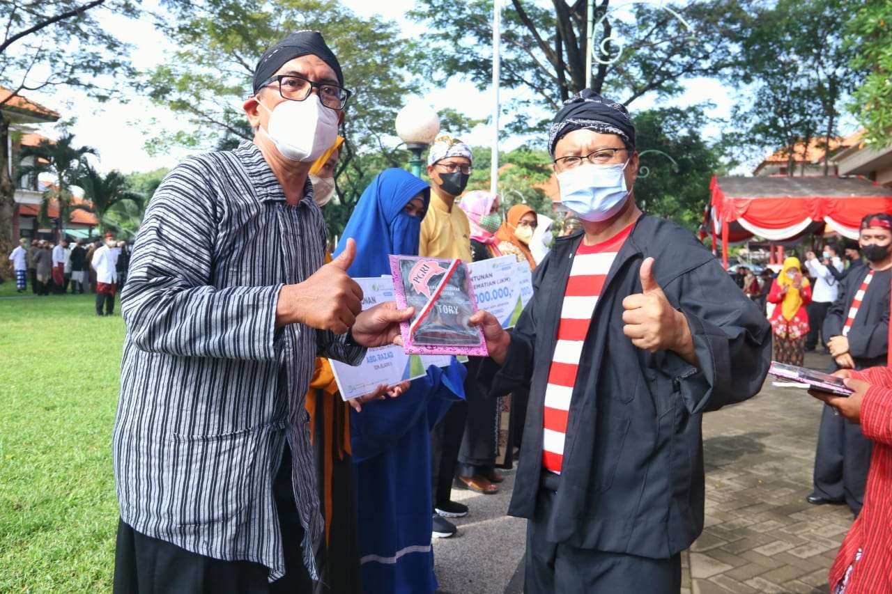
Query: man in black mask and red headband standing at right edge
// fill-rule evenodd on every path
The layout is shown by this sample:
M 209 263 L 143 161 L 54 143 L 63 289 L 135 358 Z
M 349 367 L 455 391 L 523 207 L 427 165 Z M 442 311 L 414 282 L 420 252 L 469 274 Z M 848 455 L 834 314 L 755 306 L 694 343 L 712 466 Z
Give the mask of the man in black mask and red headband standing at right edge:
M 867 266 L 855 268 L 839 284 L 837 300 L 824 320 L 823 337 L 834 369 L 886 365 L 889 282 L 892 280 L 892 217 L 864 217 L 858 243 Z M 805 499 L 814 505 L 846 503 L 857 515 L 871 462 L 871 441 L 861 427 L 825 406 L 814 454 L 814 491 Z

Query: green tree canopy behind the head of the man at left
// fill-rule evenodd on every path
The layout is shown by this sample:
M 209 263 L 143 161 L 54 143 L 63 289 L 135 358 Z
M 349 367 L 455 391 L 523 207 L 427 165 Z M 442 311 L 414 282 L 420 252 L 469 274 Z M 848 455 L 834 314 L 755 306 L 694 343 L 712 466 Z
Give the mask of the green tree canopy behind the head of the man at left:
M 251 94 L 260 55 L 298 29 L 322 31 L 343 67 L 344 87 L 353 95 L 346 106 L 346 138 L 336 170 L 340 205 L 351 208 L 382 166 L 401 166 L 407 154 L 385 142 L 394 134 L 396 113 L 420 87 L 410 74 L 421 59 L 417 44 L 400 37 L 392 21 L 359 17 L 338 3 L 278 0 L 244 4 L 228 0 L 165 0 L 169 12 L 159 26 L 178 50 L 146 73 L 145 88 L 157 103 L 182 113 L 197 128 L 174 130 L 154 142 L 208 147 L 251 138 L 241 103 Z

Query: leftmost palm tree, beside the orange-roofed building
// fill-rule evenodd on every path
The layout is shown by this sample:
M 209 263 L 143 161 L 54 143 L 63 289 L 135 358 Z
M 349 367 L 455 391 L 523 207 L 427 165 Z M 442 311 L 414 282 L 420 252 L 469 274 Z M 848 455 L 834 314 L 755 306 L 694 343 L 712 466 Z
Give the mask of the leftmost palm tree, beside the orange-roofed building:
M 44 192 L 40 202 L 40 219 L 49 219 L 49 206 L 54 200 L 59 205 L 59 219 L 56 221 L 56 229 L 59 236 L 65 234 L 65 223 L 71 214 L 71 190 L 78 169 L 85 162 L 84 155 L 96 154 L 96 150 L 89 146 L 74 145 L 74 135 L 66 132 L 55 142 L 41 139 L 37 146 L 22 146 L 21 157 L 32 157 L 34 164 L 21 167 L 20 176 L 29 174 L 52 173 L 56 178 L 54 187 Z

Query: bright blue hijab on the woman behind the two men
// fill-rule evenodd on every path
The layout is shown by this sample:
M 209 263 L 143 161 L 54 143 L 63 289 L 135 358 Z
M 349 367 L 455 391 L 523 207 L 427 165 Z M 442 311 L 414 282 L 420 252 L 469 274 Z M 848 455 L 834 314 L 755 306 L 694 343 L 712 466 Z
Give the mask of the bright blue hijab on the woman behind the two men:
M 347 239 L 356 241 L 356 259 L 347 270 L 353 278 L 390 275 L 390 254 L 417 256 L 422 217 L 403 209 L 421 193 L 425 212 L 431 188 L 404 169 L 384 169 L 376 175 L 359 202 L 337 243 L 335 258 L 343 252 Z

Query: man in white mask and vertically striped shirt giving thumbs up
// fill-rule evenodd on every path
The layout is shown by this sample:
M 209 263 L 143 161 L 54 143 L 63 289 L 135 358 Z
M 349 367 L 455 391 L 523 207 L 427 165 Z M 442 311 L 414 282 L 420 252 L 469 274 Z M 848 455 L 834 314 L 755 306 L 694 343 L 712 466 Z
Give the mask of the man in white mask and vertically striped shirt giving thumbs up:
M 410 310 L 360 313 L 323 266 L 308 171 L 350 95 L 318 32 L 269 48 L 253 142 L 196 156 L 155 192 L 121 309 L 116 592 L 310 592 L 319 514 L 304 394 L 318 354 L 359 362 Z

